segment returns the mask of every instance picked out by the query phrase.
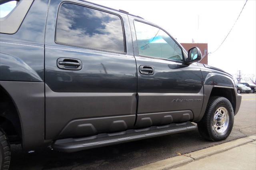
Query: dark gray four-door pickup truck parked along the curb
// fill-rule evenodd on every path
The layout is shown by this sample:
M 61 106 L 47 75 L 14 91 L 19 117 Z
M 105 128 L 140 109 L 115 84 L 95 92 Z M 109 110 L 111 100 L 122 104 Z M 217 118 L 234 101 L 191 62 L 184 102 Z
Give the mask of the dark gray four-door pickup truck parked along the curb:
M 227 138 L 241 96 L 231 75 L 197 63 L 201 57 L 123 10 L 19 0 L 0 18 L 1 169 L 10 144 L 75 152 L 194 123 L 207 140 Z

